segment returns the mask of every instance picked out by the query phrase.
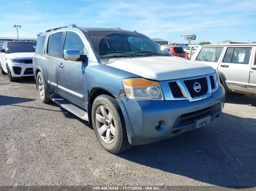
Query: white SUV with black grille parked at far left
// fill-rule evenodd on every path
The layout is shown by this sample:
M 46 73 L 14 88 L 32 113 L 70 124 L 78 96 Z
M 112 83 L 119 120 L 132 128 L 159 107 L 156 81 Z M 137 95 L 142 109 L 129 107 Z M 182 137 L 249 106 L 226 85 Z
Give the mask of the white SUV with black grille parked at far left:
M 17 77 L 33 76 L 32 59 L 36 42 L 9 41 L 0 49 L 0 72 L 7 74 L 10 81 Z

